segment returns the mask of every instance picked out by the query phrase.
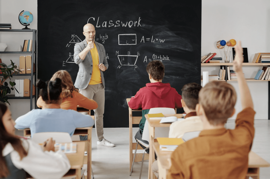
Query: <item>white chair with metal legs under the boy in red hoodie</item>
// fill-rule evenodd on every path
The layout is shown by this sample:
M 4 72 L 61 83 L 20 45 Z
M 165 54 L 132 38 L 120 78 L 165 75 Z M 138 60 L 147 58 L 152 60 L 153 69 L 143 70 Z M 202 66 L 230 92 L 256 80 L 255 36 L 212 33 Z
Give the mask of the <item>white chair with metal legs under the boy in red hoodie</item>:
M 173 108 L 168 108 L 168 107 L 155 107 L 155 108 L 151 108 L 148 112 L 148 114 L 155 114 L 155 113 L 162 113 L 162 114 L 175 114 L 176 113 L 176 110 L 173 109 Z M 148 128 L 148 121 L 146 120 L 145 123 L 144 123 L 144 128 L 143 128 L 143 135 L 142 135 L 142 140 L 146 140 L 146 141 L 149 141 L 149 128 Z M 155 137 L 156 135 L 158 137 L 168 137 L 169 135 L 169 127 L 167 128 L 156 128 L 155 129 Z M 134 153 L 134 158 L 133 158 L 133 162 L 132 162 L 132 166 L 131 166 L 131 170 L 130 170 L 130 174 L 129 176 L 131 176 L 131 173 L 132 173 L 132 169 L 133 169 L 133 164 L 134 164 L 134 160 L 135 160 L 135 156 L 136 156 L 136 152 L 137 152 L 137 147 L 138 147 L 138 144 L 142 144 L 144 147 L 146 147 L 143 151 L 143 159 L 144 159 L 144 153 L 147 149 L 149 149 L 149 144 L 146 144 L 144 143 L 143 141 L 141 140 L 137 140 L 137 144 L 136 144 L 136 149 L 135 149 L 135 153 Z M 143 159 L 141 161 L 141 171 L 143 170 Z M 140 179 L 141 179 L 141 171 L 140 171 Z

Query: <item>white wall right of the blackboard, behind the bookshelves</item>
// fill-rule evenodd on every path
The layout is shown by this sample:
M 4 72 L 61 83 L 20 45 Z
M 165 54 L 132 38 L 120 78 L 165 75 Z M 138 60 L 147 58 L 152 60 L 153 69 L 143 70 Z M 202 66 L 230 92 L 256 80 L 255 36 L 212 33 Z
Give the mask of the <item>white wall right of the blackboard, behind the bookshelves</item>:
M 241 40 L 242 46 L 248 49 L 249 62 L 255 53 L 270 52 L 270 1 L 269 0 L 227 0 L 227 1 L 202 1 L 202 37 L 201 55 L 217 53 L 218 40 Z M 227 50 L 227 46 L 225 46 Z M 209 75 L 217 75 L 219 67 L 202 67 L 201 72 L 209 71 Z M 259 67 L 244 66 L 246 78 L 254 78 Z M 233 85 L 239 96 L 237 82 Z M 251 90 L 255 119 L 268 119 L 268 82 L 248 82 Z M 237 99 L 236 112 L 242 109 L 239 98 Z M 234 115 L 231 119 L 235 119 Z

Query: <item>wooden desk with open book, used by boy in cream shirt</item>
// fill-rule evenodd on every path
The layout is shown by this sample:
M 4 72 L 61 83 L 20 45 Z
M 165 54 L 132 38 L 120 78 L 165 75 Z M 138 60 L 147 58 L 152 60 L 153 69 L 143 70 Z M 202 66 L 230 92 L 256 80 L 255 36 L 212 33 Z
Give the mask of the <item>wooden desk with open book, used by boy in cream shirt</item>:
M 161 119 L 150 120 L 148 115 L 144 115 L 149 123 L 149 168 L 148 168 L 148 179 L 154 179 L 154 174 L 152 171 L 152 164 L 155 160 L 155 152 L 153 148 L 153 143 L 155 139 L 155 127 L 170 127 L 171 123 L 159 123 Z M 164 114 L 165 117 L 176 116 L 181 118 L 182 114 Z

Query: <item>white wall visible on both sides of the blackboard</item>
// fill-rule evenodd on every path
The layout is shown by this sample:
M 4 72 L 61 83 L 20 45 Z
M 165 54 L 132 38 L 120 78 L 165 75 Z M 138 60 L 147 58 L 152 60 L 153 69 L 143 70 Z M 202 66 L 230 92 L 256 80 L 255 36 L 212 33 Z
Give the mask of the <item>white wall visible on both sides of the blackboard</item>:
M 37 29 L 37 0 L 0 0 L 0 23 L 11 23 L 12 29 L 21 29 L 23 26 L 18 21 L 18 15 L 22 10 L 33 13 L 34 20 L 29 26 Z M 227 0 L 214 1 L 202 0 L 202 37 L 201 55 L 217 53 L 218 40 L 241 40 L 242 46 L 248 48 L 249 62 L 254 54 L 270 52 L 270 1 L 269 0 Z M 23 40 L 31 39 L 31 33 L 1 32 L 0 40 L 8 45 L 8 51 L 16 51 Z M 19 62 L 18 55 L 0 54 L 5 63 L 10 59 Z M 254 78 L 255 73 L 261 67 L 244 67 L 246 78 Z M 217 74 L 218 67 L 202 67 L 202 71 L 210 71 L 209 74 Z M 230 82 L 239 93 L 237 82 Z M 254 100 L 255 119 L 267 119 L 268 117 L 268 82 L 248 82 Z M 239 94 L 238 94 L 239 96 Z M 29 100 L 10 100 L 11 112 L 16 119 L 29 111 Z M 241 111 L 241 104 L 237 100 L 237 112 Z M 235 119 L 235 116 L 232 117 Z

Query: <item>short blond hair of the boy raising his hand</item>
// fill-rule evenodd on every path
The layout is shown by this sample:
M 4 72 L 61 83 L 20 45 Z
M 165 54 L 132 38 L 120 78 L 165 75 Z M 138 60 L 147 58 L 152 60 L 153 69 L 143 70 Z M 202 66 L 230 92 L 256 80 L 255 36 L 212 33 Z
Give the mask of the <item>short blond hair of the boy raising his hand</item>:
M 199 104 L 211 125 L 226 123 L 234 112 L 236 99 L 234 87 L 226 82 L 207 83 L 199 93 Z

